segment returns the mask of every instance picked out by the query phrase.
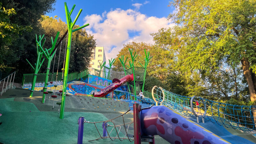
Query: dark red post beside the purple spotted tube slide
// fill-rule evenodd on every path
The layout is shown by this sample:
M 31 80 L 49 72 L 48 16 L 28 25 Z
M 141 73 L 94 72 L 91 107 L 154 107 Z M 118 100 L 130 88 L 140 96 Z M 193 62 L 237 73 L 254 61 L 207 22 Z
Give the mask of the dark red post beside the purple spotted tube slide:
M 141 105 L 138 103 L 134 103 L 133 104 L 134 144 L 141 144 L 140 111 L 141 111 Z

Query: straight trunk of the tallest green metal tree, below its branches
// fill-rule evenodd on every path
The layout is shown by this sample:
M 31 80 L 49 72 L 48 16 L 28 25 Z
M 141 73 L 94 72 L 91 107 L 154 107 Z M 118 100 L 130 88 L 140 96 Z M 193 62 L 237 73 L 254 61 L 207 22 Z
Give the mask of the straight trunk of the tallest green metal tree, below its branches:
M 60 119 L 64 118 L 64 108 L 65 108 L 65 98 L 67 90 L 67 80 L 68 80 L 68 67 L 69 67 L 69 58 L 70 58 L 70 47 L 71 47 L 72 31 L 68 31 L 68 47 L 67 47 L 67 56 L 65 62 L 65 71 L 64 71 L 64 80 L 63 80 L 63 90 L 62 90 L 62 100 L 60 108 Z

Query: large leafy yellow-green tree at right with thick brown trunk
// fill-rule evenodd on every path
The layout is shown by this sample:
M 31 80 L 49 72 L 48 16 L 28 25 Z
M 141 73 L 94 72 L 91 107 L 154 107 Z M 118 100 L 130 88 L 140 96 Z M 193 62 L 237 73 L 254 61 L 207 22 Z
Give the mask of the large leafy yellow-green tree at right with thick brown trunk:
M 220 70 L 223 62 L 232 68 L 240 65 L 250 99 L 256 100 L 256 1 L 178 0 L 170 5 L 177 8 L 168 17 L 177 24 L 169 30 L 177 65 L 208 74 Z

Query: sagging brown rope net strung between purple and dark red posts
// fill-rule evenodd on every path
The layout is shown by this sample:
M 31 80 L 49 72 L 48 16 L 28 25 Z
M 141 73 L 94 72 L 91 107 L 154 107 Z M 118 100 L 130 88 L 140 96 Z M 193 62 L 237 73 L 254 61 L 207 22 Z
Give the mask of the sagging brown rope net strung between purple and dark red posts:
M 134 138 L 131 138 L 131 136 L 129 137 L 128 130 L 131 124 L 133 124 L 133 121 L 125 123 L 124 122 L 124 115 L 127 114 L 131 109 L 127 110 L 124 114 L 117 116 L 115 118 L 109 119 L 107 121 L 101 121 L 101 122 L 89 122 L 89 121 L 85 121 L 84 123 L 89 123 L 89 124 L 94 124 L 97 132 L 99 133 L 99 138 L 94 139 L 94 140 L 100 140 L 100 139 L 110 139 L 110 140 L 116 140 L 119 139 L 120 141 L 123 140 L 129 140 L 130 142 L 132 142 L 134 140 Z M 123 120 L 123 124 L 119 124 L 116 125 L 115 122 L 113 120 L 117 119 L 121 117 Z M 103 133 L 101 133 L 99 131 L 99 128 L 96 126 L 96 124 L 98 123 L 103 123 L 102 124 L 102 129 L 103 129 Z M 110 125 L 108 123 L 112 123 L 113 125 Z M 108 130 L 108 127 L 111 127 L 111 130 Z M 125 135 L 121 132 L 121 128 L 124 128 L 125 131 Z M 127 128 L 126 128 L 127 127 Z M 124 136 L 123 136 L 124 135 Z M 94 141 L 94 140 L 88 140 L 88 141 Z

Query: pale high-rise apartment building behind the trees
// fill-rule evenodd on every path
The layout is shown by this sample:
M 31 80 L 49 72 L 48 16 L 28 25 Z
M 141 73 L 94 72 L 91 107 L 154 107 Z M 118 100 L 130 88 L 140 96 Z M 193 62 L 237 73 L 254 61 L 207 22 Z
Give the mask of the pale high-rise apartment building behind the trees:
M 99 69 L 100 63 L 106 61 L 105 51 L 103 45 L 97 45 L 93 51 L 89 68 Z

